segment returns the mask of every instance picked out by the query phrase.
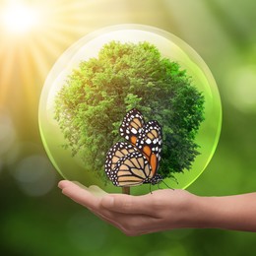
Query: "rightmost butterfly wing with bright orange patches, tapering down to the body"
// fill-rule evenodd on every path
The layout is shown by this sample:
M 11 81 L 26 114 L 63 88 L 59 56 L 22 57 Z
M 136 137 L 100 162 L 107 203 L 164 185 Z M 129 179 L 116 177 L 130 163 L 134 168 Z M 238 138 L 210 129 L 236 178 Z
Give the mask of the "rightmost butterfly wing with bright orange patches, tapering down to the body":
M 150 178 L 153 178 L 160 165 L 160 153 L 162 148 L 161 127 L 158 121 L 149 121 L 142 129 L 136 148 L 144 154 L 150 162 L 152 172 Z

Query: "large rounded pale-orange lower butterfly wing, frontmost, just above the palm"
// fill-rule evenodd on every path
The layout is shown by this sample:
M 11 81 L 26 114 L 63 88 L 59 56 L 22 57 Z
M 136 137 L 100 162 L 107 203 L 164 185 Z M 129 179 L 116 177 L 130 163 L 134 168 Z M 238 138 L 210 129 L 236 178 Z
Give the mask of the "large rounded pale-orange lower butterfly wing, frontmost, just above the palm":
M 115 186 L 137 186 L 149 182 L 152 172 L 149 161 L 138 151 L 126 155 L 116 163 L 110 174 Z

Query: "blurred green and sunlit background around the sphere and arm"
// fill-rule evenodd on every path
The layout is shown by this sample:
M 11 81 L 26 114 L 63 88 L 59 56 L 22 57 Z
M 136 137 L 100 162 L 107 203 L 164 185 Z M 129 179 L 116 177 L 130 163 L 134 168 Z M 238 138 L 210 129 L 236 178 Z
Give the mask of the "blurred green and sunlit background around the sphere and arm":
M 24 24 L 26 6 L 37 12 L 33 26 Z M 255 10 L 254 0 L 0 1 L 0 254 L 255 255 L 255 233 L 184 229 L 128 237 L 102 223 L 61 195 L 61 177 L 37 125 L 44 80 L 72 43 L 110 25 L 158 27 L 201 55 L 223 102 L 217 152 L 187 190 L 202 196 L 255 191 Z

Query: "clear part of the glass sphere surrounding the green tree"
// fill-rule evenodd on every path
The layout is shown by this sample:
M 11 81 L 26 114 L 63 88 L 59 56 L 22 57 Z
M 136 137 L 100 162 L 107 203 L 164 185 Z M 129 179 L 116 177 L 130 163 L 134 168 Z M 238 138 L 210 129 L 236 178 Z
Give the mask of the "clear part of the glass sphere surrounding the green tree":
M 92 32 L 68 48 L 57 60 L 49 72 L 43 86 L 39 103 L 39 129 L 43 146 L 49 159 L 58 172 L 69 180 L 76 180 L 85 186 L 97 185 L 107 192 L 121 192 L 111 182 L 105 184 L 93 171 L 87 169 L 85 162 L 73 157 L 69 149 L 64 149 L 64 135 L 58 122 L 54 119 L 54 98 L 65 84 L 72 71 L 82 61 L 97 57 L 100 48 L 112 40 L 139 43 L 147 41 L 154 44 L 162 57 L 177 62 L 181 69 L 193 79 L 193 85 L 205 97 L 205 120 L 201 123 L 195 143 L 200 146 L 200 155 L 192 163 L 190 170 L 174 173 L 174 178 L 166 178 L 164 182 L 171 188 L 186 188 L 205 170 L 212 159 L 218 145 L 222 126 L 222 104 L 216 82 L 202 58 L 183 40 L 170 32 L 144 25 L 120 25 L 107 27 Z M 164 142 L 163 142 L 164 143 Z M 109 146 L 109 148 L 111 145 Z M 102 170 L 103 171 L 103 170 Z M 165 185 L 160 184 L 161 188 Z M 149 185 L 132 187 L 132 194 L 149 192 Z M 151 186 L 151 190 L 158 186 Z

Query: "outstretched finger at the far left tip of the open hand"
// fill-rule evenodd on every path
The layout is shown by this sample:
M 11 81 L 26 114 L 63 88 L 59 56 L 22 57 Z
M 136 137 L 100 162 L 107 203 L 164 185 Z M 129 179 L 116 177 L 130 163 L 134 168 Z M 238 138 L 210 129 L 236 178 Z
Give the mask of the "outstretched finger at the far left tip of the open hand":
M 88 188 L 81 188 L 74 182 L 63 180 L 59 182 L 59 188 L 62 189 L 62 193 L 73 201 L 83 205 L 87 208 L 98 208 L 100 203 L 100 197 L 96 197 L 89 191 Z

